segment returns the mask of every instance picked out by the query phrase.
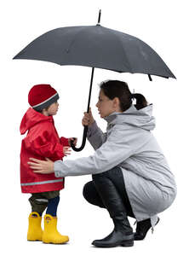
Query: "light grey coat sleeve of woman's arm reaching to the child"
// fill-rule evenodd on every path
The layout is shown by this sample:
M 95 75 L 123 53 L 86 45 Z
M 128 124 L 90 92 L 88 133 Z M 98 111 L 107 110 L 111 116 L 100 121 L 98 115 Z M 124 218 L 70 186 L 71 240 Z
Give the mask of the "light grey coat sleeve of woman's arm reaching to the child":
M 121 165 L 124 160 L 134 154 L 137 148 L 133 147 L 133 141 L 137 139 L 138 137 L 132 134 L 132 131 L 124 138 L 117 131 L 112 131 L 106 143 L 98 148 L 93 155 L 77 160 L 55 161 L 54 175 L 66 177 L 106 172 Z

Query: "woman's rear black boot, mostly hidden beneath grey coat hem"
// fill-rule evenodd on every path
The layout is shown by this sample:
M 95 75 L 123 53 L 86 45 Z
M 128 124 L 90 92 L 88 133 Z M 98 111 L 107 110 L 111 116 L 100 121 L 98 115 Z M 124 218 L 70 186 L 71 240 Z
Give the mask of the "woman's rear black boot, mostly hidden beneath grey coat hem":
M 156 223 L 156 225 L 159 222 L 159 218 L 158 221 Z M 135 241 L 139 241 L 139 240 L 143 240 L 146 237 L 147 231 L 150 230 L 152 228 L 152 224 L 151 224 L 151 219 L 147 218 L 145 220 L 142 220 L 140 222 L 137 223 L 136 225 L 136 232 L 135 232 Z

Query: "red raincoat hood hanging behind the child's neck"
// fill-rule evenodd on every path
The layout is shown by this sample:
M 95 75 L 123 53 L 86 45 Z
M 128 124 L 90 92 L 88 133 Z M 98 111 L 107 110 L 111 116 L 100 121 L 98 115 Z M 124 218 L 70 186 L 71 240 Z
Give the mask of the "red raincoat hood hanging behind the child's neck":
M 23 116 L 20 124 L 20 134 L 25 134 L 32 126 L 37 125 L 39 122 L 53 122 L 52 116 L 45 116 L 33 108 L 28 108 Z

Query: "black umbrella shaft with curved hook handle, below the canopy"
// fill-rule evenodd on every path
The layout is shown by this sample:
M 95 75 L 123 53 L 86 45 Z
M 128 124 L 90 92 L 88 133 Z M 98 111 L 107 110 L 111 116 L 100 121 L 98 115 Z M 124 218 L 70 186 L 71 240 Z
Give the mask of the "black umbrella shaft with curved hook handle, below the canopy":
M 92 67 L 92 73 L 91 73 L 91 78 L 90 78 L 90 89 L 89 89 L 89 99 L 88 99 L 88 108 L 87 108 L 87 113 L 89 113 L 89 108 L 90 108 L 90 98 L 91 98 L 91 92 L 92 92 L 92 85 L 93 85 L 93 78 L 94 78 L 94 67 Z M 71 142 L 71 147 L 74 151 L 82 151 L 85 143 L 86 143 L 86 137 L 87 137 L 87 132 L 88 132 L 88 125 L 84 125 L 84 129 L 83 129 L 83 141 L 82 141 L 82 145 L 80 148 L 76 148 L 73 144 L 73 142 Z

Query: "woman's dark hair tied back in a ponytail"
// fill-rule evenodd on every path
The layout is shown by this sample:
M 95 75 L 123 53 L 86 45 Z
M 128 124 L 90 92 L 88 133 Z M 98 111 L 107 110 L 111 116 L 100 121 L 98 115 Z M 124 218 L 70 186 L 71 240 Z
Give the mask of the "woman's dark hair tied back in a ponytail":
M 108 80 L 100 83 L 100 89 L 103 90 L 105 96 L 113 100 L 115 97 L 119 99 L 120 108 L 126 111 L 132 105 L 132 99 L 136 99 L 135 108 L 141 109 L 147 106 L 146 98 L 140 93 L 132 94 L 127 83 L 118 80 Z

